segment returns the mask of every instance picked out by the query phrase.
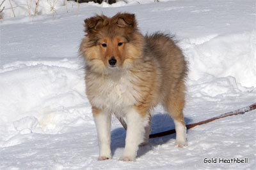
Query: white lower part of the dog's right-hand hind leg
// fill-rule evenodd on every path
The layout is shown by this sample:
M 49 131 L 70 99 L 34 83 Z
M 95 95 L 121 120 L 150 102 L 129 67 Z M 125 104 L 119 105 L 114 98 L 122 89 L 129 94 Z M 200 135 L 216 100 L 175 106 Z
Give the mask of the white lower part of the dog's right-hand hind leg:
M 175 124 L 176 130 L 176 145 L 179 147 L 187 146 L 186 142 L 186 126 L 178 122 L 177 120 L 173 120 Z

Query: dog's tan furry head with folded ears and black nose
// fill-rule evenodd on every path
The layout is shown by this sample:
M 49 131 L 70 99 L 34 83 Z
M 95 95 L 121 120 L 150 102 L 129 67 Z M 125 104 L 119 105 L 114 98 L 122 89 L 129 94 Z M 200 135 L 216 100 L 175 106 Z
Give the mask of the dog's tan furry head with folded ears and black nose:
M 108 18 L 104 15 L 84 20 L 86 36 L 80 53 L 86 66 L 93 71 L 128 69 L 141 57 L 143 36 L 138 31 L 134 14 L 117 13 Z

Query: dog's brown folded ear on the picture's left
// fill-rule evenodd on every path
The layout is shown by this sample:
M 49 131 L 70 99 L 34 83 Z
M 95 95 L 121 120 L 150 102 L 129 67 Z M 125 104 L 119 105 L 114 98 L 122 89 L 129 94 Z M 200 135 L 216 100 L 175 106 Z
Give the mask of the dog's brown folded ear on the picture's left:
M 84 20 L 86 33 L 97 32 L 103 27 L 104 16 L 97 15 L 96 17 L 87 18 Z

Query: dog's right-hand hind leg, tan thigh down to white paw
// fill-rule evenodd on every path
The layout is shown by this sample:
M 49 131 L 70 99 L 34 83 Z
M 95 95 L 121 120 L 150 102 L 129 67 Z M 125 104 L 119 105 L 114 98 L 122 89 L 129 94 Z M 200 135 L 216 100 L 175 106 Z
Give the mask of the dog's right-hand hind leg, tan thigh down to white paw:
M 188 146 L 186 142 L 186 126 L 184 123 L 183 108 L 185 105 L 184 83 L 180 83 L 179 87 L 173 90 L 164 101 L 164 107 L 173 118 L 176 130 L 176 145 L 180 148 Z

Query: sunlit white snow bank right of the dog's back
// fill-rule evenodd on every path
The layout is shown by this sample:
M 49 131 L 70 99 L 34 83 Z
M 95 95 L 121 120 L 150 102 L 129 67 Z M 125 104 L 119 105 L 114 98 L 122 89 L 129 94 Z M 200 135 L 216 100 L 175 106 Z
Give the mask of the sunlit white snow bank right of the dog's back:
M 255 31 L 188 39 L 181 46 L 189 60 L 189 78 L 207 74 L 233 76 L 245 87 L 256 87 Z

